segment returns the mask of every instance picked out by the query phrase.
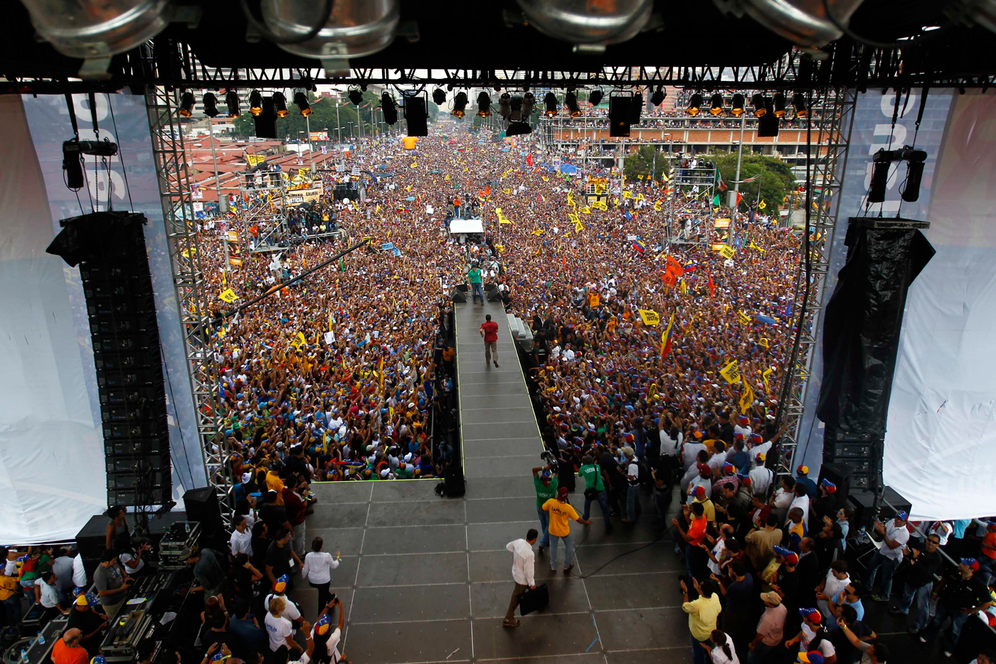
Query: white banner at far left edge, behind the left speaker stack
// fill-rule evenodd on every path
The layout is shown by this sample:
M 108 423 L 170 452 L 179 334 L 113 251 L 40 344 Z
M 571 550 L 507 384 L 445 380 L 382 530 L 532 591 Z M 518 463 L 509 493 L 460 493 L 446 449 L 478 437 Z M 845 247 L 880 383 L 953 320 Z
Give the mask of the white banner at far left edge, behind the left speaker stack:
M 0 96 L 0 127 L 0 542 L 72 539 L 108 499 L 83 292 L 45 253 L 55 233 L 20 97 Z

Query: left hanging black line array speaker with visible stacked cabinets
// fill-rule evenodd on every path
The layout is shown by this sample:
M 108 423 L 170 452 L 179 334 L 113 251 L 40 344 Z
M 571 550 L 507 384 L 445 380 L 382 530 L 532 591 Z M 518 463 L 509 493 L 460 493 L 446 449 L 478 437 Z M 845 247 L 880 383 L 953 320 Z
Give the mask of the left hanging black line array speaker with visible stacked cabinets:
M 97 368 L 108 504 L 128 506 L 159 505 L 172 494 L 144 223 L 144 215 L 128 212 L 63 219 L 62 232 L 47 249 L 80 265 Z

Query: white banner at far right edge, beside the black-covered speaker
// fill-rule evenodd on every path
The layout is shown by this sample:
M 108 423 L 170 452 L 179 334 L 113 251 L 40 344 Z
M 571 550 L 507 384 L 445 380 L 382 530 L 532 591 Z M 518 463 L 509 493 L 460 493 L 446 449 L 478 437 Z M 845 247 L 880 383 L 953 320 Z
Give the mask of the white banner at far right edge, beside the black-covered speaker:
M 937 253 L 906 299 L 885 434 L 885 484 L 913 517 L 996 514 L 994 183 L 996 98 L 954 95 L 924 231 Z

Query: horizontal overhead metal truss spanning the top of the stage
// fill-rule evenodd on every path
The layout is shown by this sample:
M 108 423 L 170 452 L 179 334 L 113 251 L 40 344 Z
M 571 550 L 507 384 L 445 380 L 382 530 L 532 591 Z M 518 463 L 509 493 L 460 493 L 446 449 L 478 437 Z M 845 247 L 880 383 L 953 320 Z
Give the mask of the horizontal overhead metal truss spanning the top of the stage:
M 142 47 L 147 48 L 147 47 Z M 812 60 L 793 49 L 773 63 L 747 66 L 592 67 L 579 70 L 531 69 L 380 69 L 356 68 L 348 76 L 326 75 L 318 61 L 314 68 L 245 69 L 208 67 L 199 62 L 189 44 L 156 42 L 157 58 L 166 66 L 149 75 L 135 67 L 132 53 L 125 54 L 104 80 L 71 80 L 69 77 L 8 75 L 0 81 L 0 94 L 63 94 L 115 92 L 124 86 L 166 86 L 189 89 L 297 88 L 302 85 L 395 86 L 410 90 L 424 85 L 452 84 L 459 88 L 489 87 L 504 81 L 535 88 L 607 87 L 632 91 L 634 87 L 674 86 L 712 90 L 827 90 L 868 88 L 983 88 L 996 87 L 996 74 L 934 71 L 931 59 L 915 48 L 876 49 L 844 41 L 826 49 L 827 57 Z M 929 55 L 929 54 L 928 54 Z M 440 76 L 436 72 L 443 72 Z

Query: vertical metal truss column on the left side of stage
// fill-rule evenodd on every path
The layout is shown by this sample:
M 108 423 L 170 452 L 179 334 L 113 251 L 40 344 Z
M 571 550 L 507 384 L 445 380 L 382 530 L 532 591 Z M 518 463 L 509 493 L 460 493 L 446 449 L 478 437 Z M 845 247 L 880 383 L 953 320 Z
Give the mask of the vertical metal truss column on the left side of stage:
M 153 65 L 154 66 L 154 65 Z M 215 392 L 219 371 L 211 345 L 207 284 L 201 268 L 197 226 L 193 218 L 190 175 L 184 160 L 183 136 L 176 116 L 176 91 L 149 86 L 145 108 L 152 136 L 152 156 L 159 182 L 169 264 L 176 290 L 176 311 L 183 332 L 190 390 L 207 483 L 214 488 L 223 517 L 234 510 L 228 445 L 220 435 Z M 175 405 L 177 409 L 183 407 Z M 227 520 L 227 518 L 226 518 Z

